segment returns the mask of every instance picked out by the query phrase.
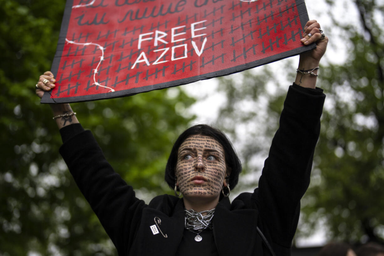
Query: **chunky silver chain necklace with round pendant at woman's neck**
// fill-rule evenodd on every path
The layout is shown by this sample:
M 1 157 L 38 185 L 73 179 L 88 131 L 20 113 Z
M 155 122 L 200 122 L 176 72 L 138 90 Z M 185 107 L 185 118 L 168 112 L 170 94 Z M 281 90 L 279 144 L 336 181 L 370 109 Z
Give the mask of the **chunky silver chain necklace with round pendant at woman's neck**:
M 200 236 L 200 232 L 206 228 L 212 229 L 213 224 L 211 222 L 214 217 L 215 209 L 209 211 L 194 211 L 193 209 L 185 211 L 185 229 L 197 234 L 195 241 L 200 242 L 203 238 Z M 204 213 L 207 215 L 203 216 Z

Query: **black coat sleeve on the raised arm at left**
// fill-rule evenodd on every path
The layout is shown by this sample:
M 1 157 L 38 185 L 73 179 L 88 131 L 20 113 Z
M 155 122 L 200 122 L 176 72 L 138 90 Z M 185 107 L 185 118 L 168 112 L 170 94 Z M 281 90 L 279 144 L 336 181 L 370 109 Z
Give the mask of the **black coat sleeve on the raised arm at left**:
M 82 129 L 82 128 L 81 128 Z M 63 133 L 62 133 L 63 135 Z M 144 201 L 114 172 L 90 131 L 66 138 L 60 148 L 76 184 L 98 216 L 119 255 L 126 255 L 140 221 Z

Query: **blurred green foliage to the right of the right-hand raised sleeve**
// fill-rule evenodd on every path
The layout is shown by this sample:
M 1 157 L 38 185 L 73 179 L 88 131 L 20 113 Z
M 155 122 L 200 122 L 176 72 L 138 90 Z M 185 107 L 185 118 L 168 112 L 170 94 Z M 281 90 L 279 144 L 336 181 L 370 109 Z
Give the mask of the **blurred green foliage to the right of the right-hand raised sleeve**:
M 321 86 L 329 105 L 315 159 L 316 182 L 303 210 L 312 225 L 325 218 L 333 237 L 384 242 L 384 30 L 376 20 L 384 5 L 353 4 L 362 30 L 334 21 L 352 48 L 345 63 L 324 67 Z

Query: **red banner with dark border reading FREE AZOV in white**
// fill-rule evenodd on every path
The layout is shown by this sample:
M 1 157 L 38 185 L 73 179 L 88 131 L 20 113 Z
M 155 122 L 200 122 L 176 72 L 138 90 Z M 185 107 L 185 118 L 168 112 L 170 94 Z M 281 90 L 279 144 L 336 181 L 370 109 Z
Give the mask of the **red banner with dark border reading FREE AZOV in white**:
M 315 47 L 303 0 L 68 0 L 42 103 L 134 95 Z

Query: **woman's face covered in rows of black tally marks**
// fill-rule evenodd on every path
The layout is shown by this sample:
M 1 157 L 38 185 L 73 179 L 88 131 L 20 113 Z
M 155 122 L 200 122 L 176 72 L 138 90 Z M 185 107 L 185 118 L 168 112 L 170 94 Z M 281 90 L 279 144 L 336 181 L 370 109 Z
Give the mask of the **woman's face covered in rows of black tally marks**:
M 188 137 L 179 147 L 175 174 L 183 196 L 218 196 L 226 176 L 222 145 L 209 136 Z

